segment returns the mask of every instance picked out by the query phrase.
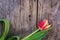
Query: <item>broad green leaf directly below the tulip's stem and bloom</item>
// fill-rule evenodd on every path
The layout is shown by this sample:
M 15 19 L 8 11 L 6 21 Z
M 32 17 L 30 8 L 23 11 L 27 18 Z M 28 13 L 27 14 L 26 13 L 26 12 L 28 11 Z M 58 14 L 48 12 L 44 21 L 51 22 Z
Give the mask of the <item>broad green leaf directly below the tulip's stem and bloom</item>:
M 23 40 L 37 40 L 37 39 L 42 39 L 44 36 L 46 36 L 46 34 L 48 33 L 48 30 L 42 30 L 39 31 L 33 35 L 31 35 L 30 37 L 23 39 Z

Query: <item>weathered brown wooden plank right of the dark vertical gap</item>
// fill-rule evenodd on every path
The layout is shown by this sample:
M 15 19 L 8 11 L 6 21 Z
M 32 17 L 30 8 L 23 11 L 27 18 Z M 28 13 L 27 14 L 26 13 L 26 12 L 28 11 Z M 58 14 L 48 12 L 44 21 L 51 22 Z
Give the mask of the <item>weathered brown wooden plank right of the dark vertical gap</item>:
M 42 19 L 48 19 L 49 22 L 52 24 L 52 29 L 46 38 L 43 40 L 60 40 L 60 35 L 58 32 L 57 27 L 57 20 L 59 20 L 59 15 L 57 14 L 58 11 L 58 3 L 60 3 L 58 0 L 39 0 L 38 1 L 38 22 Z M 57 15 L 57 17 L 56 17 Z M 57 19 L 58 18 L 58 19 Z M 60 21 L 59 21 L 60 22 Z M 60 30 L 59 30 L 60 31 Z

